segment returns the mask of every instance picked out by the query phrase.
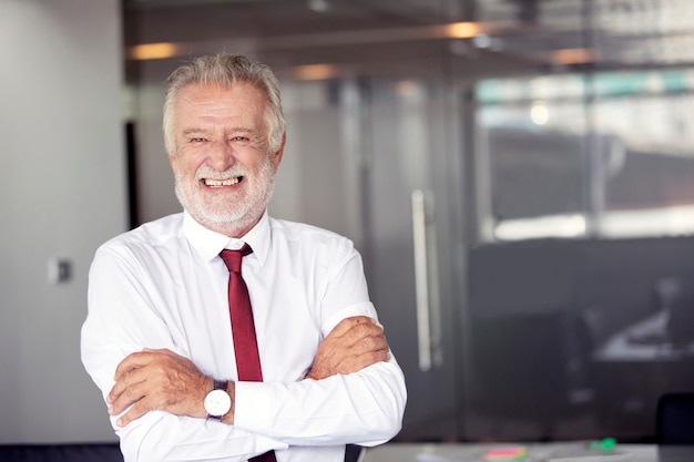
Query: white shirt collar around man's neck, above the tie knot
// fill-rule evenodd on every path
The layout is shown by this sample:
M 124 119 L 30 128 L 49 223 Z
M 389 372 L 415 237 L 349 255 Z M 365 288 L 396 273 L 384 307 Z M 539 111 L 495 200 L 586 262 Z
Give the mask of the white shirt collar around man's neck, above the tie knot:
M 246 243 L 253 249 L 253 254 L 258 258 L 261 265 L 265 263 L 269 251 L 269 217 L 267 209 L 258 223 L 241 239 L 229 238 L 212 229 L 207 229 L 195 220 L 186 211 L 183 212 L 183 233 L 188 243 L 195 248 L 203 259 L 210 261 L 225 249 L 238 249 Z

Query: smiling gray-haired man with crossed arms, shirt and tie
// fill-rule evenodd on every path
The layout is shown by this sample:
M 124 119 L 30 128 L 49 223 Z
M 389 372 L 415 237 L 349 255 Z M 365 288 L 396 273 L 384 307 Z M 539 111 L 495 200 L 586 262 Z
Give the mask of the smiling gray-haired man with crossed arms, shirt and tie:
M 182 65 L 164 137 L 184 212 L 98 249 L 82 328 L 125 461 L 337 462 L 347 443 L 391 439 L 405 380 L 359 254 L 267 215 L 285 144 L 272 71 L 232 54 Z M 235 330 L 243 302 L 223 257 L 242 247 L 249 349 L 236 343 L 247 329 Z M 239 378 L 254 355 L 262 381 Z

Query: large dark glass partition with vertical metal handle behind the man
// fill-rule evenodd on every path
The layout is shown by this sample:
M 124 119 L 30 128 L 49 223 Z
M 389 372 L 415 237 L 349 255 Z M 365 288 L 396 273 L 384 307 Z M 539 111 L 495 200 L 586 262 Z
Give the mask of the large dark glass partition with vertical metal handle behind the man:
M 659 393 L 692 388 L 664 320 L 694 311 L 694 2 L 123 4 L 140 218 L 180 209 L 167 73 L 271 64 L 271 214 L 361 251 L 410 390 L 400 440 L 650 438 Z

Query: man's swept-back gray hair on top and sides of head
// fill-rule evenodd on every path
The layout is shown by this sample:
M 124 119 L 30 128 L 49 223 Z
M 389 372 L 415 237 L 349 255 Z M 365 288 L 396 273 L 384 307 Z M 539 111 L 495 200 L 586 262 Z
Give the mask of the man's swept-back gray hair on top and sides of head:
M 273 153 L 279 150 L 286 123 L 282 111 L 279 82 L 267 65 L 251 62 L 248 58 L 241 54 L 218 53 L 198 57 L 186 62 L 173 71 L 166 82 L 169 86 L 164 101 L 164 143 L 170 154 L 176 152 L 173 125 L 174 106 L 178 93 L 193 84 L 231 86 L 238 82 L 249 83 L 267 96 L 265 123 L 267 124 L 268 148 Z

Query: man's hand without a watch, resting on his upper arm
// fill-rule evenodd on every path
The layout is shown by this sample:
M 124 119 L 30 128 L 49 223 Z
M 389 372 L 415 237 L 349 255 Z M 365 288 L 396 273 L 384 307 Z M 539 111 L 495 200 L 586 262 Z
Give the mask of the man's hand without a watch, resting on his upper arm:
M 337 373 L 357 372 L 388 359 L 388 342 L 375 319 L 367 316 L 346 318 L 323 339 L 306 378 L 320 380 Z

